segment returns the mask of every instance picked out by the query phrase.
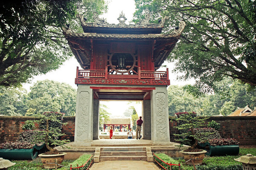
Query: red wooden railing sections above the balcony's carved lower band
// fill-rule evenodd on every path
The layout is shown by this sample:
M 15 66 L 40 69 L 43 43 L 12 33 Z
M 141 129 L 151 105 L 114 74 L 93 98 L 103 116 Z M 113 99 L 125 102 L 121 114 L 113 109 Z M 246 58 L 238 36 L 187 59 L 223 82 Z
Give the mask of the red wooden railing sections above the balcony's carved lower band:
M 105 78 L 108 79 L 108 68 L 105 70 L 79 70 L 76 68 L 76 78 Z M 169 79 L 169 71 L 166 68 L 166 71 L 141 71 L 140 67 L 137 75 L 122 75 L 120 78 L 133 77 L 136 76 L 137 79 Z M 111 76 L 109 76 L 111 77 Z

